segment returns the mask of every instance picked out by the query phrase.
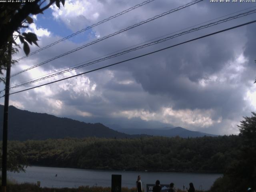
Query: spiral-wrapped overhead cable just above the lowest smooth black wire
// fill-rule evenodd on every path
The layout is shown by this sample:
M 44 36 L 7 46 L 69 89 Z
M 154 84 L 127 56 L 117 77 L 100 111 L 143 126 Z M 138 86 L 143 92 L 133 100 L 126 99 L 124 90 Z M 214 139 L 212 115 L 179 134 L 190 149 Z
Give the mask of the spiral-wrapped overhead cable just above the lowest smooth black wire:
M 28 84 L 32 84 L 32 83 L 34 83 L 34 82 L 38 82 L 38 81 L 41 81 L 41 80 L 45 80 L 45 79 L 48 79 L 48 78 L 51 78 L 51 77 L 54 77 L 54 76 L 57 76 L 57 75 L 60 75 L 60 74 L 64 74 L 64 73 L 66 73 L 66 72 L 70 72 L 70 71 L 72 71 L 72 70 L 76 70 L 76 69 L 79 69 L 79 68 L 82 68 L 82 67 L 85 67 L 85 66 L 89 66 L 89 65 L 92 65 L 92 64 L 95 64 L 95 63 L 98 63 L 98 62 L 101 62 L 101 61 L 110 59 L 110 58 L 114 58 L 114 57 L 117 57 L 117 56 L 120 56 L 120 55 L 129 53 L 129 52 L 132 52 L 132 51 L 135 51 L 135 50 L 139 50 L 139 49 L 142 49 L 142 48 L 145 48 L 145 47 L 148 47 L 148 46 L 152 46 L 152 45 L 154 45 L 154 44 L 162 43 L 162 42 L 165 42 L 165 41 L 167 41 L 167 40 L 170 40 L 170 39 L 173 39 L 173 38 L 176 38 L 176 37 L 179 37 L 179 36 L 182 36 L 182 35 L 185 35 L 185 34 L 194 32 L 194 31 L 202 30 L 202 29 L 204 29 L 204 28 L 208 28 L 208 27 L 211 27 L 211 26 L 215 26 L 215 25 L 218 25 L 218 24 L 221 24 L 221 23 L 224 23 L 224 22 L 228 22 L 228 21 L 233 20 L 233 19 L 241 18 L 241 17 L 243 17 L 243 16 L 247 16 L 247 15 L 250 15 L 250 14 L 253 14 L 253 13 L 256 13 L 256 9 L 255 9 L 255 10 L 250 10 L 250 11 L 248 11 L 248 12 L 244 12 L 244 13 L 241 13 L 241 14 L 238 14 L 238 15 L 236 15 L 236 16 L 231 16 L 231 17 L 228 17 L 228 18 L 225 18 L 225 19 L 222 19 L 222 20 L 218 20 L 218 21 L 216 21 L 216 22 L 212 22 L 212 23 L 209 23 L 209 24 L 206 24 L 206 25 L 197 27 L 197 28 L 192 28 L 192 29 L 190 29 L 190 30 L 181 32 L 181 33 L 179 33 L 179 34 L 174 34 L 174 35 L 172 35 L 172 36 L 168 36 L 168 37 L 165 37 L 165 38 L 156 40 L 156 41 L 154 41 L 154 42 L 150 42 L 150 43 L 147 43 L 147 44 L 144 44 L 144 45 L 141 45 L 141 46 L 137 46 L 137 47 L 131 48 L 131 49 L 129 49 L 129 50 L 125 50 L 125 51 L 122 51 L 122 52 L 118 52 L 118 53 L 116 53 L 116 54 L 112 54 L 112 55 L 110 55 L 110 56 L 107 56 L 107 57 L 104 57 L 104 58 L 101 58 L 101 59 L 98 59 L 98 60 L 94 60 L 94 61 L 92 61 L 92 62 L 87 62 L 87 63 L 82 64 L 82 65 L 80 65 L 80 66 L 76 66 L 76 67 L 73 67 L 73 68 L 70 68 L 70 69 L 66 69 L 66 70 L 63 70 L 63 71 L 60 71 L 60 72 L 56 72 L 56 73 L 54 73 L 54 74 L 51 74 L 51 75 L 48 75 L 48 76 L 44 76 L 44 77 L 42 77 L 42 78 L 38 78 L 38 79 L 29 81 L 29 82 L 25 82 L 25 83 L 16 84 L 16 85 L 14 85 L 14 86 L 11 86 L 10 88 L 18 88 L 18 87 L 21 87 L 21 86 L 25 86 L 25 85 L 28 85 Z

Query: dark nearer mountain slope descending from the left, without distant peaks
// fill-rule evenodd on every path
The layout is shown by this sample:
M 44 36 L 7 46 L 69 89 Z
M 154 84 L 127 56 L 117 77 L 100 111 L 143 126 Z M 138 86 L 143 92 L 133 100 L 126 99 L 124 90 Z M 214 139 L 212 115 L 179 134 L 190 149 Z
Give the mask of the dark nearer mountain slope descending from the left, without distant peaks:
M 0 138 L 2 139 L 3 106 L 0 105 Z M 60 118 L 46 113 L 34 113 L 9 107 L 8 140 L 44 140 L 48 138 L 104 137 L 134 138 L 112 130 L 100 123 L 85 123 L 70 118 Z

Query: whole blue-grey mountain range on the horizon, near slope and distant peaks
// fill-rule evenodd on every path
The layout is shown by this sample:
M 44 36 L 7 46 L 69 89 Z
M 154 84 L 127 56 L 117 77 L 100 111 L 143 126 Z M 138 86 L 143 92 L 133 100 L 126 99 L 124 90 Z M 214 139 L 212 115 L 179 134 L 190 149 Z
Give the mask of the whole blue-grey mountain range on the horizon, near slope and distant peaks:
M 0 105 L 0 138 L 2 138 L 4 106 Z M 146 134 L 145 134 L 146 133 Z M 101 123 L 85 123 L 70 118 L 60 118 L 46 113 L 29 112 L 9 106 L 8 140 L 45 140 L 48 138 L 138 138 L 145 136 L 200 137 L 215 136 L 194 132 L 181 127 L 164 129 L 113 130 Z

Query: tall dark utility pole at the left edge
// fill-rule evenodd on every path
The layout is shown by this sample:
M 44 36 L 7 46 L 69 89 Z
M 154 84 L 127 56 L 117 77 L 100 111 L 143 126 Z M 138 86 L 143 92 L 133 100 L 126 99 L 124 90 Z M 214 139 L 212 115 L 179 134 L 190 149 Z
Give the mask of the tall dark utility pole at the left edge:
M 6 192 L 7 178 L 7 133 L 8 133 L 8 109 L 9 109 L 9 89 L 10 89 L 10 73 L 12 62 L 12 41 L 8 44 L 8 59 L 6 68 L 6 82 L 4 95 L 4 124 L 3 124 L 3 153 L 2 153 L 2 192 Z

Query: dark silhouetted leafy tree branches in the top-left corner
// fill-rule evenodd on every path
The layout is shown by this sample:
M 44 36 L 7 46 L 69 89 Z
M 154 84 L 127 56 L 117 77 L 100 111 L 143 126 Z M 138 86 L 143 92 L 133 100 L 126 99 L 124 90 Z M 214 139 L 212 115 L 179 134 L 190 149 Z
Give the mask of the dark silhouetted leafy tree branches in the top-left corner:
M 20 39 L 23 44 L 23 50 L 26 55 L 29 54 L 29 44 L 37 44 L 38 41 L 36 34 L 22 32 L 22 28 L 28 28 L 28 25 L 33 23 L 33 19 L 29 16 L 43 13 L 44 10 L 49 8 L 54 2 L 60 8 L 60 1 L 64 6 L 65 0 L 28 0 L 24 2 L 6 2 L 0 4 L 0 74 L 6 70 L 6 61 L 8 61 L 8 43 L 12 42 L 17 45 L 15 40 Z M 13 36 L 14 32 L 18 35 Z M 16 50 L 17 51 L 17 50 Z M 14 64 L 15 61 L 12 61 Z

